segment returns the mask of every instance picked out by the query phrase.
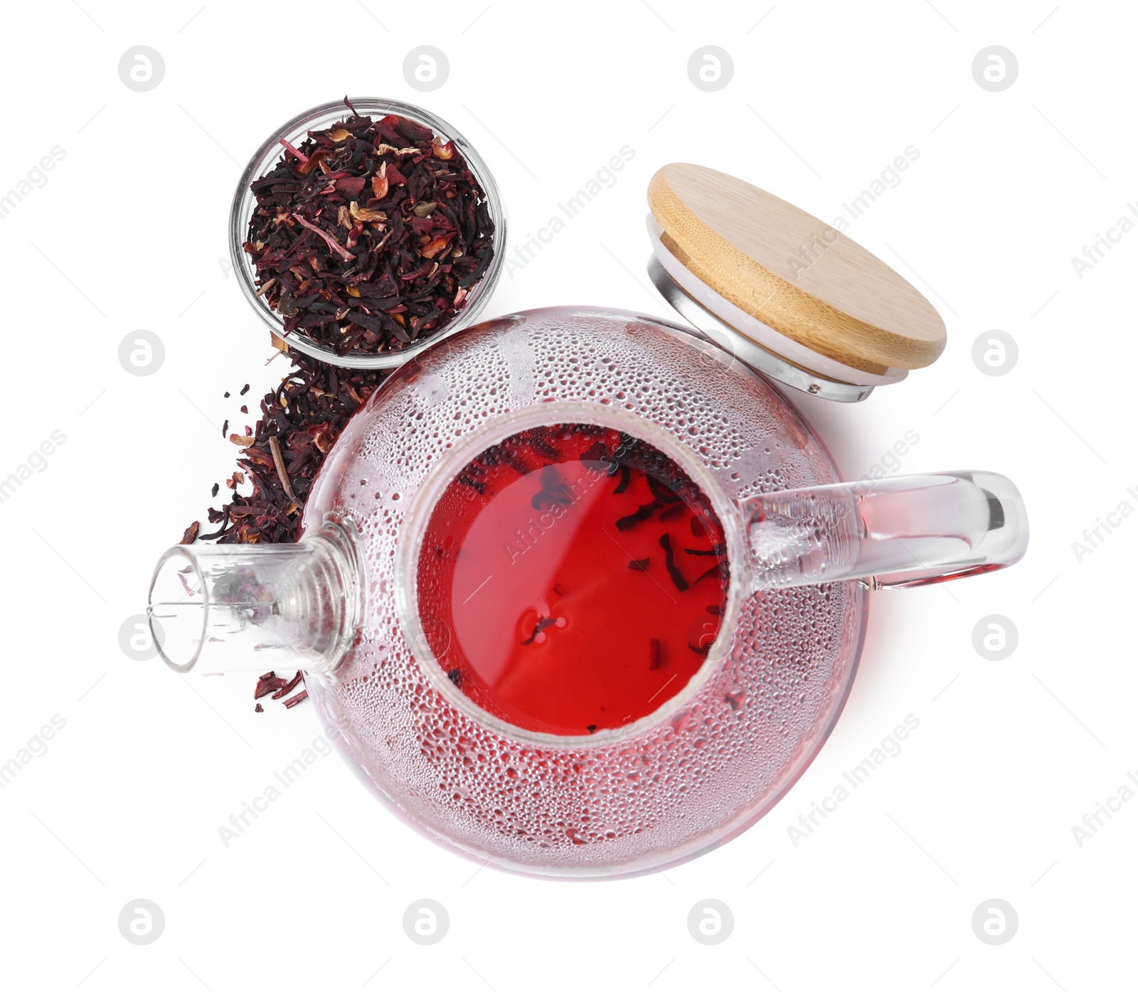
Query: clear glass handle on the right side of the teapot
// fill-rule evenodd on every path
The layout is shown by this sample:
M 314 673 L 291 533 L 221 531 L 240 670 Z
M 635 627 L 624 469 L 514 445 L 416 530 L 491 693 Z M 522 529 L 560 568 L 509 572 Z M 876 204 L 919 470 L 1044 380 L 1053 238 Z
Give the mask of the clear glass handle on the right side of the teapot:
M 756 592 L 844 579 L 925 586 L 1006 568 L 1028 547 L 1023 498 L 993 472 L 785 489 L 740 507 Z

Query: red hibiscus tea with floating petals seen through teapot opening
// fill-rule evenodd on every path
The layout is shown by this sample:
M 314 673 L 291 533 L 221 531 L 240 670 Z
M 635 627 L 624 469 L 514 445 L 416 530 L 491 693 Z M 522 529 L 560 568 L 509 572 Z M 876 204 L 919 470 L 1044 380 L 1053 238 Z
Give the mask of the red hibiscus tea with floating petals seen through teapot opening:
M 687 685 L 729 571 L 710 501 L 675 462 L 570 423 L 465 465 L 434 509 L 418 580 L 427 643 L 470 700 L 577 736 L 632 724 Z

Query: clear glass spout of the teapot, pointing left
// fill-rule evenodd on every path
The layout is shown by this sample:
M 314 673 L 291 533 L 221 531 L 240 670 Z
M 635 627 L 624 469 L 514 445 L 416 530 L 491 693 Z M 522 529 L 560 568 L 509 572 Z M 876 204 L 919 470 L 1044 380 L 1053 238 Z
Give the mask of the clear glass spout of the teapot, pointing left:
M 147 615 L 174 671 L 331 675 L 355 642 L 362 590 L 355 524 L 329 520 L 297 544 L 170 548 Z

